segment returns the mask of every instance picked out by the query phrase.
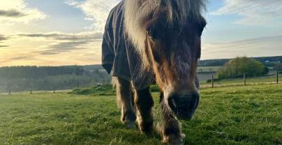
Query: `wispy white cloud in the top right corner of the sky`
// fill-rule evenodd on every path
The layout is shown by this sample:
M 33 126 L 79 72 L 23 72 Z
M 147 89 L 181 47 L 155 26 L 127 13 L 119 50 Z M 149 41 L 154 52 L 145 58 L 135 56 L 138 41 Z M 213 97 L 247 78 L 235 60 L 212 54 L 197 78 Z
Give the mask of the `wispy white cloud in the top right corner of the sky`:
M 239 15 L 235 23 L 240 25 L 282 24 L 281 0 L 224 0 L 224 6 L 213 15 Z

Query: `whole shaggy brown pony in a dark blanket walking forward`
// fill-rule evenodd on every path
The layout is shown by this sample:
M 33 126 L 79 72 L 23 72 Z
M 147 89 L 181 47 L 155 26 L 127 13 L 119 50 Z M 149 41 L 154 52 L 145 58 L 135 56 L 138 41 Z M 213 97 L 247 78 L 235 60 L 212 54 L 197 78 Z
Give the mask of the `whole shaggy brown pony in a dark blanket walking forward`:
M 117 78 L 121 121 L 149 133 L 154 125 L 168 144 L 184 144 L 179 119 L 190 120 L 200 96 L 205 0 L 124 0 L 110 12 L 102 44 L 103 67 Z M 153 117 L 149 84 L 161 90 Z M 154 123 L 154 119 L 155 123 Z

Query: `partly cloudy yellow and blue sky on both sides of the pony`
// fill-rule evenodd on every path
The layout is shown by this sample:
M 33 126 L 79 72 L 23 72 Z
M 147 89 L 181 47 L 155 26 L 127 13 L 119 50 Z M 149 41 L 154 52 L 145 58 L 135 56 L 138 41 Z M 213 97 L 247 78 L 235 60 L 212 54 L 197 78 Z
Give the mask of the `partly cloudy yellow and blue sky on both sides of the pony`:
M 101 64 L 120 0 L 0 0 L 0 67 Z M 201 60 L 282 55 L 281 0 L 209 0 Z

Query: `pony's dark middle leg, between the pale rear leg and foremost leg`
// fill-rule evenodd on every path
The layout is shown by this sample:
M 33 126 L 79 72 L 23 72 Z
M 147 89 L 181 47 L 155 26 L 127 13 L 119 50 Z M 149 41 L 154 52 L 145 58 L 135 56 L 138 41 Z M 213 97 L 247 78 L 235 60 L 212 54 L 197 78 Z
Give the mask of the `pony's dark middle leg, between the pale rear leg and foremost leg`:
M 154 126 L 154 120 L 151 114 L 154 100 L 151 97 L 149 87 L 144 90 L 135 90 L 134 102 L 140 131 L 150 133 Z

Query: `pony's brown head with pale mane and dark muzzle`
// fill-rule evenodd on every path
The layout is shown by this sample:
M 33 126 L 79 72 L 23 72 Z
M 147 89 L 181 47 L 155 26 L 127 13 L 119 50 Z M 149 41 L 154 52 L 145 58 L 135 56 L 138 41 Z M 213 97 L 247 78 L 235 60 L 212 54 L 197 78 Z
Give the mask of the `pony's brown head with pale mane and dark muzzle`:
M 124 27 L 144 69 L 154 71 L 163 102 L 178 118 L 198 107 L 196 68 L 206 21 L 204 0 L 126 0 Z

